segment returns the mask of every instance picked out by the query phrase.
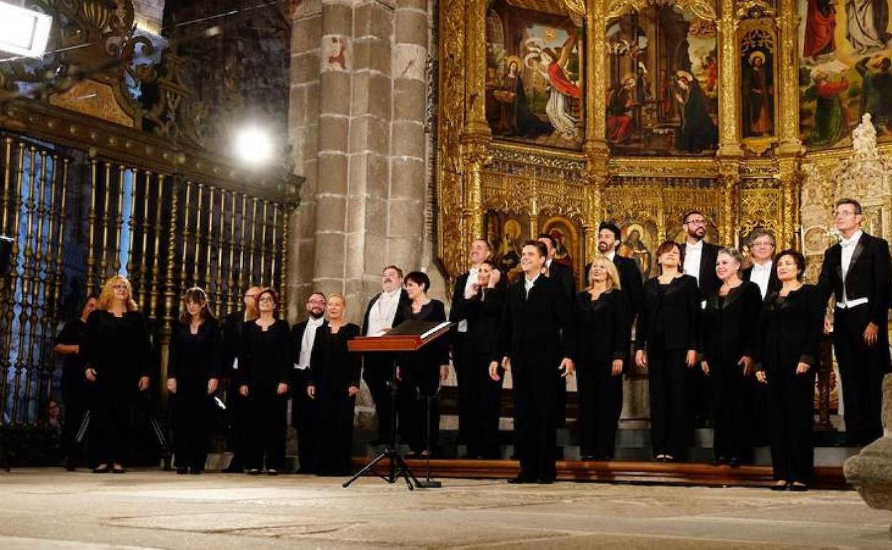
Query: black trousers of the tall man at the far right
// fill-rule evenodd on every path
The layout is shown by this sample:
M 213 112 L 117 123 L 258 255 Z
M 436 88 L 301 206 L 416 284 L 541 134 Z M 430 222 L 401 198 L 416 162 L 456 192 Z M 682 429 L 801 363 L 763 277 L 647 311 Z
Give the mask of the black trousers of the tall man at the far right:
M 880 326 L 877 343 L 864 344 L 867 305 L 837 308 L 834 314 L 833 347 L 836 351 L 842 398 L 846 406 L 846 437 L 850 445 L 868 445 L 883 435 L 880 421 L 883 375 L 888 373 L 889 350 Z

